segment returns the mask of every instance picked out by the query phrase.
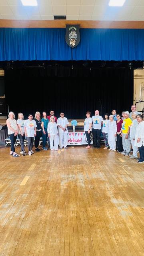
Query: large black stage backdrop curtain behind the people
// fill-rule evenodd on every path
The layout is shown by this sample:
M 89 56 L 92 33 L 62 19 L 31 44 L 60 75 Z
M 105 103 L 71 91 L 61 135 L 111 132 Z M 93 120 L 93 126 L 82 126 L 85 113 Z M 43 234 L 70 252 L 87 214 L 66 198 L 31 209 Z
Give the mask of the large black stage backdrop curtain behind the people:
M 5 71 L 6 102 L 16 116 L 36 111 L 60 111 L 67 118 L 85 118 L 86 111 L 102 116 L 115 109 L 130 111 L 133 103 L 133 70 L 98 69 L 14 69 Z

